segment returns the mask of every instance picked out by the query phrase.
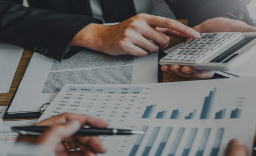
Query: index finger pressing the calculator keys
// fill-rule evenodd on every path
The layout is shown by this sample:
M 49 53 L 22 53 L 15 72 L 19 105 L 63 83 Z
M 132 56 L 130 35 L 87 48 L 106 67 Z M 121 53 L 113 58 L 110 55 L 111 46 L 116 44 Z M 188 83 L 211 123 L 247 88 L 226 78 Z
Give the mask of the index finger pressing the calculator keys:
M 174 19 L 169 19 L 161 16 L 146 15 L 145 20 L 149 25 L 155 27 L 168 28 L 191 38 L 200 37 L 199 32 Z

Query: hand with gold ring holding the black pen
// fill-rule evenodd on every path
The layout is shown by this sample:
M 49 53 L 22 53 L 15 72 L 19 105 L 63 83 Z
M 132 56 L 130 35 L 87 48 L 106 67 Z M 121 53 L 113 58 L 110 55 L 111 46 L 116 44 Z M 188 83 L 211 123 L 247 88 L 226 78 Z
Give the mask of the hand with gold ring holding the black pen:
M 37 123 L 36 126 L 48 127 L 41 135 L 21 134 L 18 141 L 48 146 L 55 155 L 78 156 L 105 153 L 107 149 L 98 136 L 74 135 L 83 125 L 106 128 L 109 123 L 94 117 L 63 113 Z

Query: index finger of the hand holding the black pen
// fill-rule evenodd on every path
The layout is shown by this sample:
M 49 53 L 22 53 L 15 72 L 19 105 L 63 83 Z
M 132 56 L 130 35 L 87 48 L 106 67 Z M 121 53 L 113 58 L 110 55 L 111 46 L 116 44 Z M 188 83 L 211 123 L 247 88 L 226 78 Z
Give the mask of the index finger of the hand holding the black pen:
M 73 113 L 63 113 L 48 119 L 45 119 L 35 125 L 37 126 L 51 126 L 56 124 L 67 123 L 72 120 L 78 120 L 82 125 L 89 125 L 93 127 L 105 128 L 109 125 L 109 122 L 106 120 L 98 119 L 95 117 L 78 115 Z

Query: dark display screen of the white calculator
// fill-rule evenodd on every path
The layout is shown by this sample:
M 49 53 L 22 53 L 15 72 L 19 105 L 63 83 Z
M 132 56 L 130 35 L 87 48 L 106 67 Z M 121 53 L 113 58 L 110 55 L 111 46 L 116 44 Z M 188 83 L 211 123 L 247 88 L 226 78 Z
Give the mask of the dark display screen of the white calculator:
M 231 48 L 229 48 L 228 50 L 226 50 L 225 52 L 221 53 L 219 56 L 217 56 L 216 58 L 214 58 L 212 61 L 213 63 L 219 63 L 222 62 L 223 60 L 225 60 L 227 57 L 229 57 L 230 55 L 232 55 L 233 53 L 235 53 L 236 51 L 238 51 L 240 48 L 242 48 L 243 46 L 245 46 L 246 44 L 248 44 L 249 42 L 251 42 L 253 39 L 255 39 L 256 37 L 246 37 L 244 39 L 242 39 L 241 41 L 239 41 L 237 44 L 235 44 L 234 46 L 232 46 Z M 238 54 L 237 54 L 238 55 Z M 235 56 L 237 56 L 235 55 Z M 232 56 L 232 58 L 234 58 L 235 56 Z M 231 60 L 231 59 L 229 59 Z M 229 60 L 223 62 L 226 63 Z

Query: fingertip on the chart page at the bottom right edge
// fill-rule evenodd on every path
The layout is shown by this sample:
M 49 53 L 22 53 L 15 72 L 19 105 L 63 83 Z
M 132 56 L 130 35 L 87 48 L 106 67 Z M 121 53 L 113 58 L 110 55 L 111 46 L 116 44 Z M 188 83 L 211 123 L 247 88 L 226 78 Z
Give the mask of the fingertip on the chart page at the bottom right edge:
M 248 155 L 248 152 L 247 152 L 246 145 L 242 141 L 238 139 L 233 139 L 228 143 L 225 156 L 247 156 L 247 155 Z

